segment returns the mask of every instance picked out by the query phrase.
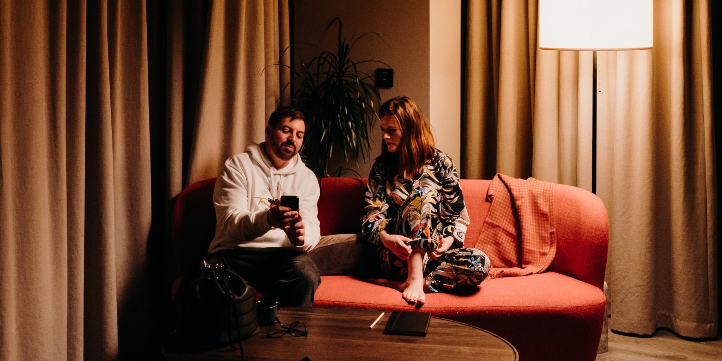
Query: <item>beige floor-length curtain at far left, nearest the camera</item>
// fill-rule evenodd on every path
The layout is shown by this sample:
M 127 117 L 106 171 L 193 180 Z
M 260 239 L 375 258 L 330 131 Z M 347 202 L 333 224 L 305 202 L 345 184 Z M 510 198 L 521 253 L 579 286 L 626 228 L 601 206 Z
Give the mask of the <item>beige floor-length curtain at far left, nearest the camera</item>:
M 147 349 L 145 4 L 0 4 L 0 359 Z

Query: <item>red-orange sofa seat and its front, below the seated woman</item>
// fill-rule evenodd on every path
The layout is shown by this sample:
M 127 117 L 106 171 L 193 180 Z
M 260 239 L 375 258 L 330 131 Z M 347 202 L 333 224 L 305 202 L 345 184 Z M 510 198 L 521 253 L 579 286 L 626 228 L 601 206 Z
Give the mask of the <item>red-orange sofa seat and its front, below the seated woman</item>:
M 601 331 L 605 303 L 599 288 L 545 272 L 488 279 L 471 295 L 427 294 L 421 310 L 492 331 L 525 360 L 594 360 L 599 333 L 590 329 Z M 413 310 L 400 292 L 350 276 L 321 277 L 313 304 Z

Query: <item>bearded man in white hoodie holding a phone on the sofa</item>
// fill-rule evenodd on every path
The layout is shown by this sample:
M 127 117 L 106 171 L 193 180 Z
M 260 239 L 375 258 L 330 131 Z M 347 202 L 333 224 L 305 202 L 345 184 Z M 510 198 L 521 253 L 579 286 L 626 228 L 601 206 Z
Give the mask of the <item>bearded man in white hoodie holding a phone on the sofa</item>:
M 316 175 L 298 151 L 305 132 L 303 113 L 279 108 L 269 117 L 266 141 L 225 161 L 213 193 L 216 234 L 208 253 L 281 306 L 311 306 L 321 277 L 307 251 L 321 239 Z M 298 196 L 294 211 L 281 206 Z

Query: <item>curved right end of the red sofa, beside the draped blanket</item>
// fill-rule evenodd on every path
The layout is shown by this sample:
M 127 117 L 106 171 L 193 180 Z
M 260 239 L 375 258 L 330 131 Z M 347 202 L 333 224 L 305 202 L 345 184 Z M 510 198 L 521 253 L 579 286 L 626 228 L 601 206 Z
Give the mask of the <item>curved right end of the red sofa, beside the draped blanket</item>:
M 567 274 L 604 290 L 609 220 L 601 199 L 584 189 L 557 184 L 554 221 L 557 254 L 549 271 Z

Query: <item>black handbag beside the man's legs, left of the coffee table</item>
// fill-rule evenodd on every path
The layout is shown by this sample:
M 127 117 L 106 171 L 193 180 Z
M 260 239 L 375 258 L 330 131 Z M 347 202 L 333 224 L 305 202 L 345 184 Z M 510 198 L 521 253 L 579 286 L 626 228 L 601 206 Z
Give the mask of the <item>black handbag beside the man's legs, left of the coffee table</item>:
M 225 258 L 201 262 L 201 274 L 181 285 L 174 299 L 175 351 L 205 351 L 231 345 L 258 333 L 256 290 L 227 266 Z M 240 335 L 240 338 L 239 338 Z

